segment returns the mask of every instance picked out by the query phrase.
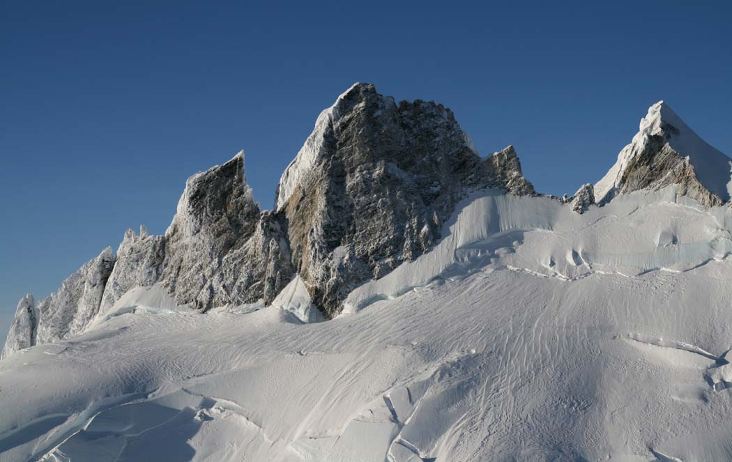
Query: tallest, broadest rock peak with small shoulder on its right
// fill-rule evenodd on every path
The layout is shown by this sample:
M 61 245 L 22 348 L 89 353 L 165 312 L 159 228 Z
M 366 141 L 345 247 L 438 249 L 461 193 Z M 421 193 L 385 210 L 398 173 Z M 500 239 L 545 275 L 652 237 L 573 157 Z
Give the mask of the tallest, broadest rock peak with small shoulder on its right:
M 534 193 L 511 147 L 481 160 L 443 105 L 397 105 L 358 83 L 318 117 L 276 205 L 294 269 L 334 316 L 359 283 L 424 253 L 455 203 L 480 187 Z

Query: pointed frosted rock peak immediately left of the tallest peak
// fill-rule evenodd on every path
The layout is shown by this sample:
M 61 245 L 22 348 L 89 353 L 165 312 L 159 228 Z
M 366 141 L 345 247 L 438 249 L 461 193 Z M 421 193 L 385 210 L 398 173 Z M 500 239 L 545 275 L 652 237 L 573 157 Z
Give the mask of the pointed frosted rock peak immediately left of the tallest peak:
M 243 152 L 188 179 L 165 242 L 161 282 L 198 310 L 264 298 L 291 276 L 280 270 L 288 259 L 280 224 L 255 203 Z

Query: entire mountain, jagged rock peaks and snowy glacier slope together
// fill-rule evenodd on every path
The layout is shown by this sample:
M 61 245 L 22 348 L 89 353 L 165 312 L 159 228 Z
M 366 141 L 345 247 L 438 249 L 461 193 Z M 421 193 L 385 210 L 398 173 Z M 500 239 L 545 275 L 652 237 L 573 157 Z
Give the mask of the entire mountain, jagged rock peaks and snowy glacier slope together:
M 356 84 L 272 211 L 239 153 L 21 300 L 0 461 L 732 460 L 728 162 L 659 103 L 557 200 Z

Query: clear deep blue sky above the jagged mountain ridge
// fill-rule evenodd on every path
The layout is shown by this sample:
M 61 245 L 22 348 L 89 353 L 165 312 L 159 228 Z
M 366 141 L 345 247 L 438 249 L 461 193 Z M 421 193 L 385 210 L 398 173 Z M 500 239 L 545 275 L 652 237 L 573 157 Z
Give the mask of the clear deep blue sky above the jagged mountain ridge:
M 163 233 L 185 179 L 239 149 L 271 207 L 356 81 L 444 103 L 483 154 L 515 145 L 543 193 L 600 179 L 657 100 L 732 154 L 732 2 L 509 3 L 0 1 L 0 337 L 23 294 Z

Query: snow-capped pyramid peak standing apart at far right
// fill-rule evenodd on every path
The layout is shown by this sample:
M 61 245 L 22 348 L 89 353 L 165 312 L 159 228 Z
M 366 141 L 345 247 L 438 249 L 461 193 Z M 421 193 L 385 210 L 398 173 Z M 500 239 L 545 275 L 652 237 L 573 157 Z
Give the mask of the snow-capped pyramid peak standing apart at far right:
M 680 185 L 679 193 L 706 206 L 730 199 L 732 160 L 694 133 L 660 101 L 641 119 L 638 133 L 597 184 L 595 200 L 619 193 Z

